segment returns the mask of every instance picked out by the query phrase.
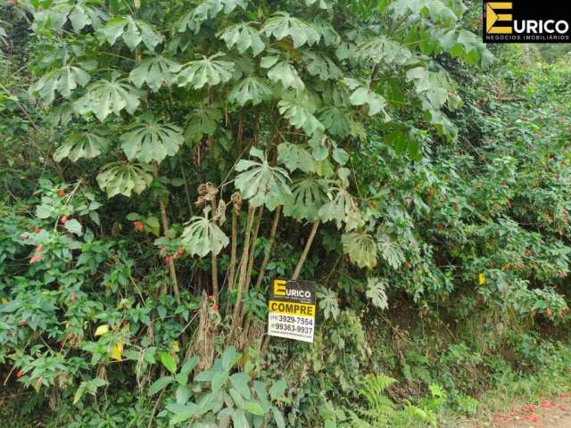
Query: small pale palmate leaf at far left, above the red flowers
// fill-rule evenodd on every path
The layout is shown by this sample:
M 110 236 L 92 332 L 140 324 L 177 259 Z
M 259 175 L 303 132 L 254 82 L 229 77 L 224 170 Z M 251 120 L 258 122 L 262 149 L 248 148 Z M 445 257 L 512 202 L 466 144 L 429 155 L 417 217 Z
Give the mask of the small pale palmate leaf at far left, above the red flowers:
M 108 135 L 101 130 L 93 128 L 72 131 L 54 152 L 54 161 L 60 162 L 64 158 L 69 158 L 72 162 L 79 158 L 92 159 L 99 156 L 108 145 Z

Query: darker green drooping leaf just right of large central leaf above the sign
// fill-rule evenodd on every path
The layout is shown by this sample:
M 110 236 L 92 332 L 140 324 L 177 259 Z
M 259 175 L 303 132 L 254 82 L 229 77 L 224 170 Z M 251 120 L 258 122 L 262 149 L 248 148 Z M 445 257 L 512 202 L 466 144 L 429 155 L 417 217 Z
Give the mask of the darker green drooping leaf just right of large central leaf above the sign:
M 292 194 L 285 199 L 284 214 L 298 220 L 315 221 L 319 209 L 327 202 L 327 182 L 312 177 L 302 178 L 292 185 Z

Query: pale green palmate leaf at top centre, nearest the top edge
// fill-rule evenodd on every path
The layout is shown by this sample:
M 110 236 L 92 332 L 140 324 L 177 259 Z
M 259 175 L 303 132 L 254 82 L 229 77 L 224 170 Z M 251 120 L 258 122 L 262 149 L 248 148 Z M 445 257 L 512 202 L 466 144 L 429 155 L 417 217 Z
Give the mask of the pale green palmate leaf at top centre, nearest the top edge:
M 309 23 L 294 18 L 287 12 L 276 12 L 266 21 L 260 30 L 266 36 L 273 36 L 277 40 L 291 37 L 294 48 L 302 45 L 314 45 L 319 42 L 319 32 Z

